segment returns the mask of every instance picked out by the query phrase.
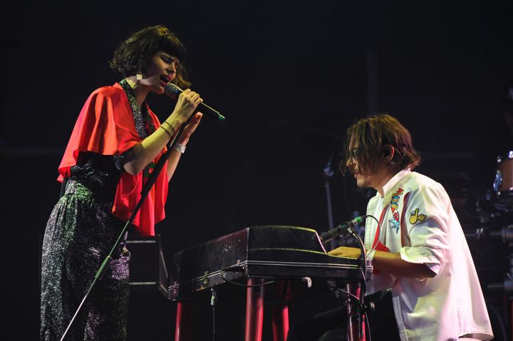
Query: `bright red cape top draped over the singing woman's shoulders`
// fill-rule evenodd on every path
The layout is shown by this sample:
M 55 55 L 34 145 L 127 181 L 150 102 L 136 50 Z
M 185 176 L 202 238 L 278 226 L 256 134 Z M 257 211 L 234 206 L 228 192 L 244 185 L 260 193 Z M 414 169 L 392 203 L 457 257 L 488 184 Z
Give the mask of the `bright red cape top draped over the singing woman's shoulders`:
M 155 127 L 160 126 L 157 116 L 149 110 Z M 76 164 L 78 152 L 95 152 L 103 155 L 121 154 L 142 141 L 133 118 L 132 108 L 125 90 L 115 83 L 113 86 L 98 88 L 83 105 L 71 133 L 66 152 L 58 167 L 58 181 L 70 175 L 70 167 Z M 160 158 L 162 153 L 155 158 Z M 167 198 L 167 164 L 162 168 L 155 184 L 143 201 L 132 224 L 144 236 L 155 235 L 155 224 L 165 218 Z M 116 189 L 112 213 L 123 221 L 128 221 L 140 200 L 142 185 L 147 177 L 144 172 L 130 175 L 123 169 Z

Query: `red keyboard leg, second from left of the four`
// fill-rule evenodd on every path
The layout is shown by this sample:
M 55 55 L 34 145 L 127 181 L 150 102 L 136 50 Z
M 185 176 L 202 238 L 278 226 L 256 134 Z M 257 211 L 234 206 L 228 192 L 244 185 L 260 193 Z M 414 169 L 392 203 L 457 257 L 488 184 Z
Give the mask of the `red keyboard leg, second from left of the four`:
M 252 287 L 262 283 L 261 278 L 247 280 L 246 290 L 246 341 L 261 341 L 262 323 L 264 321 L 264 285 Z

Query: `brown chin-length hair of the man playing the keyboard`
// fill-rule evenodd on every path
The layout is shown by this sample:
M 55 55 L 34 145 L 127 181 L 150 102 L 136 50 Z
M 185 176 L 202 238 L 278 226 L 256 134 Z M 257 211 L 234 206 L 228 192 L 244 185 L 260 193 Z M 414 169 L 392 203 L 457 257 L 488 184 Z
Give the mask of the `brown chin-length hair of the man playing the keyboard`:
M 342 174 L 348 172 L 352 159 L 358 162 L 360 172 L 368 174 L 380 159 L 395 149 L 388 167 L 395 172 L 420 164 L 420 154 L 413 147 L 410 132 L 386 112 L 376 113 L 356 121 L 346 132 L 344 157 L 339 164 Z

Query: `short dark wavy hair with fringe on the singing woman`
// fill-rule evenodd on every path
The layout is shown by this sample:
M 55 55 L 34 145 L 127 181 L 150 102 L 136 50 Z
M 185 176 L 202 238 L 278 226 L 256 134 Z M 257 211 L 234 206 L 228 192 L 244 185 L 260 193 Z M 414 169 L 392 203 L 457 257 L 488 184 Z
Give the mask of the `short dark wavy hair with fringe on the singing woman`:
M 178 58 L 180 63 L 177 63 L 177 73 L 173 83 L 180 88 L 189 88 L 191 83 L 186 79 L 187 70 L 184 65 L 187 51 L 176 34 L 165 26 L 149 26 L 133 33 L 116 48 L 109 65 L 123 78 L 145 73 L 151 58 L 158 51 Z

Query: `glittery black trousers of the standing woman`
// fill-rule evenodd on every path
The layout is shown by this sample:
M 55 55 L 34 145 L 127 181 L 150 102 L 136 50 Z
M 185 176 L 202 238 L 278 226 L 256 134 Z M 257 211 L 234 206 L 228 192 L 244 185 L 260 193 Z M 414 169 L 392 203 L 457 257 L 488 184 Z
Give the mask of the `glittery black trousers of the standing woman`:
M 61 340 L 118 239 L 125 223 L 110 214 L 111 209 L 112 201 L 98 199 L 73 181 L 54 207 L 43 238 L 40 340 Z M 66 340 L 126 339 L 130 253 L 125 238 L 90 291 Z

